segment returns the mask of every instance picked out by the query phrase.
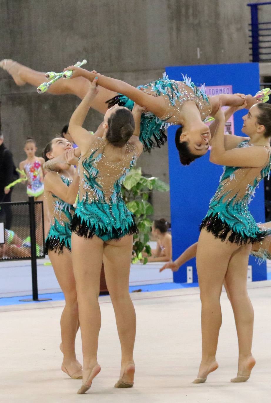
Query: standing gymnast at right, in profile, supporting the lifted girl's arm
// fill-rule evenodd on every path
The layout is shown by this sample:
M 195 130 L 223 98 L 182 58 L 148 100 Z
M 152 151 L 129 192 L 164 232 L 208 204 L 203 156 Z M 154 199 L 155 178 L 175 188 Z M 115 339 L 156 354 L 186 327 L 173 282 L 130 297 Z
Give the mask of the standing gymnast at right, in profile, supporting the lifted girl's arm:
M 252 304 L 247 294 L 248 257 L 253 243 L 263 241 L 248 210 L 258 183 L 271 168 L 271 105 L 257 104 L 243 117 L 242 132 L 225 146 L 225 115 L 216 113 L 217 129 L 212 140 L 210 161 L 224 165 L 218 189 L 201 224 L 197 245 L 197 274 L 202 301 L 202 361 L 194 383 L 205 382 L 218 368 L 216 349 L 221 326 L 220 295 L 225 281 L 237 329 L 239 360 L 237 376 L 231 382 L 245 382 L 255 365 L 251 353 Z M 241 142 L 240 142 L 241 140 Z M 234 142 L 235 145 L 234 145 Z

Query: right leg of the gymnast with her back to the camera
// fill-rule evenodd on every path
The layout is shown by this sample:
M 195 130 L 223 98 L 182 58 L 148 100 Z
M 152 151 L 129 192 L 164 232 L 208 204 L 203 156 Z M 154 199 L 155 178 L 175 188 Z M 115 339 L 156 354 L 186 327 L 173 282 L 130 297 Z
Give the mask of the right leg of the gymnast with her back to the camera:
M 120 381 L 116 387 L 132 386 L 134 382 L 136 315 L 129 294 L 132 241 L 132 235 L 127 235 L 119 241 L 106 242 L 103 256 L 105 278 L 116 316 L 122 351 Z

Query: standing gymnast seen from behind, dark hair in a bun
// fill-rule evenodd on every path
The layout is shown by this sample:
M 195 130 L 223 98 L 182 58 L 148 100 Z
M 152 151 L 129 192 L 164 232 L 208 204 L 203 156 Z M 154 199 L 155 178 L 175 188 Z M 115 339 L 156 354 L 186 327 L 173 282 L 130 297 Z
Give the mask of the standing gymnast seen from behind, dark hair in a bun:
M 96 83 L 97 79 L 88 83 L 88 91 L 69 123 L 69 133 L 81 150 L 78 203 L 71 222 L 71 255 L 84 357 L 80 394 L 90 388 L 101 370 L 97 347 L 101 327 L 98 296 L 102 262 L 122 349 L 120 380 L 115 387 L 132 387 L 135 370 L 136 318 L 128 285 L 132 234 L 137 233 L 137 226 L 122 199 L 121 185 L 143 150 L 138 138 L 142 108 L 134 107 L 138 122 L 135 125 L 130 110 L 114 106 L 105 113 L 103 133 L 90 136 L 82 124 L 99 92 Z M 134 130 L 137 136 L 133 135 Z

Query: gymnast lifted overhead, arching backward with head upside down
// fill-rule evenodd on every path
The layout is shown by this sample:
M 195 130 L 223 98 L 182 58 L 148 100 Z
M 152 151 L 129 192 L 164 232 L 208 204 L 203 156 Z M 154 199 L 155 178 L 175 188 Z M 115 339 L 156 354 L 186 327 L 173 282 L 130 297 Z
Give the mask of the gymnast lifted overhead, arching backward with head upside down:
M 44 73 L 34 71 L 11 59 L 4 59 L 0 67 L 12 75 L 15 83 L 24 85 L 29 83 L 35 86 L 45 81 Z M 71 80 L 60 79 L 50 86 L 49 92 L 54 94 L 71 93 L 81 99 L 86 95 L 88 84 L 97 75 L 96 71 L 89 72 L 74 66 L 67 67 L 73 70 Z M 109 106 L 119 104 L 132 109 L 134 102 L 145 106 L 148 112 L 141 116 L 140 140 L 145 150 L 150 151 L 155 145 L 160 147 L 166 141 L 164 133 L 169 124 L 181 125 L 182 133 L 176 143 L 181 163 L 190 164 L 208 151 L 210 132 L 203 120 L 208 115 L 214 115 L 219 102 L 222 106 L 239 106 L 244 99 L 234 95 L 222 94 L 208 97 L 204 86 L 200 88 L 184 77 L 184 81 L 169 80 L 166 75 L 146 85 L 135 88 L 110 77 L 99 75 L 101 88 L 98 96 L 92 101 L 92 108 L 105 114 L 107 103 Z M 120 95 L 123 94 L 123 95 Z M 264 97 L 264 94 L 263 94 Z M 251 95 L 246 96 L 248 108 L 257 102 Z

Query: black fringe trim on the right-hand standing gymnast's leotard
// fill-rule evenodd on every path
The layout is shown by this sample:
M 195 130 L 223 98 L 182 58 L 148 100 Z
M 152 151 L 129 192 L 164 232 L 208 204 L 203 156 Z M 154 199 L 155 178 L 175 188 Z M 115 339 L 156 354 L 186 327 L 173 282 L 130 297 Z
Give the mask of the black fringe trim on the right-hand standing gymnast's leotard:
M 265 232 L 260 232 L 257 233 L 255 237 L 250 237 L 248 235 L 243 236 L 241 233 L 233 231 L 227 222 L 223 222 L 220 218 L 218 218 L 218 213 L 216 213 L 214 216 L 211 214 L 210 216 L 205 217 L 200 225 L 200 231 L 202 228 L 205 228 L 206 231 L 211 232 L 216 239 L 221 239 L 221 241 L 225 241 L 230 232 L 231 235 L 229 236 L 228 241 L 230 243 L 235 243 L 236 245 L 246 245 L 247 243 L 253 244 L 263 241 L 265 237 Z

